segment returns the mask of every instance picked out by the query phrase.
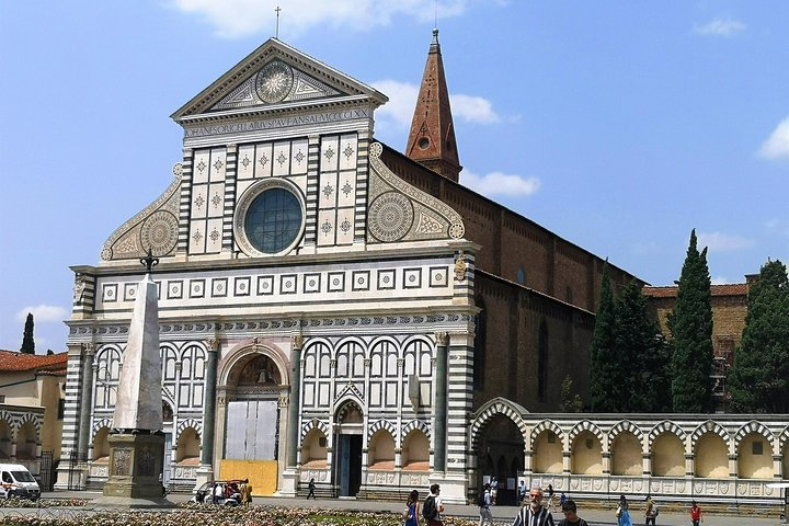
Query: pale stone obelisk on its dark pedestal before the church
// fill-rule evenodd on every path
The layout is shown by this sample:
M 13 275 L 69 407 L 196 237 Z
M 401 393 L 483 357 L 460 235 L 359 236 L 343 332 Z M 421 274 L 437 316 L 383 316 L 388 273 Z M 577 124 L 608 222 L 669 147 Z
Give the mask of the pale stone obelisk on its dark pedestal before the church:
M 128 343 L 124 353 L 113 428 L 110 432 L 110 478 L 99 505 L 151 507 L 170 503 L 163 499 L 161 355 L 159 354 L 159 304 L 151 268 L 158 263 L 150 252 L 140 260 L 148 267 L 137 287 Z

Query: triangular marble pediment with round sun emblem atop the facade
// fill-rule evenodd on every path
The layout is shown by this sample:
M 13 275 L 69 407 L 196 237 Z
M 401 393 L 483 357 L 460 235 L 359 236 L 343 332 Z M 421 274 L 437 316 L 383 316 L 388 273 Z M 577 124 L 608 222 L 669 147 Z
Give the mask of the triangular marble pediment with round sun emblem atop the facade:
M 192 99 L 172 118 L 267 111 L 342 100 L 368 99 L 375 106 L 386 95 L 345 73 L 270 38 L 227 73 Z

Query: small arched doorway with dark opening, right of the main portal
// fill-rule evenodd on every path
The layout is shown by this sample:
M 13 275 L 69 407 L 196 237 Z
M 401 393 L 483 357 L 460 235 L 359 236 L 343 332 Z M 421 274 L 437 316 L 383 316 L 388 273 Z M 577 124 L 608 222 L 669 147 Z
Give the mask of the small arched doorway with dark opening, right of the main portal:
M 362 443 L 365 431 L 362 408 L 355 401 L 348 400 L 338 409 L 334 422 L 334 484 L 340 496 L 354 496 L 362 487 Z

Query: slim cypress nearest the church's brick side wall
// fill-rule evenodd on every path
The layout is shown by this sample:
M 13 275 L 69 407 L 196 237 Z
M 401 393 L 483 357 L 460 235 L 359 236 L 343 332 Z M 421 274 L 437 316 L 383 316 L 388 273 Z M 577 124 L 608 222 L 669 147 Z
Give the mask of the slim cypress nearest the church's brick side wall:
M 590 396 L 592 411 L 616 413 L 621 400 L 630 395 L 622 390 L 622 364 L 616 348 L 614 291 L 607 264 L 603 267 L 601 298 L 595 316 L 590 356 Z

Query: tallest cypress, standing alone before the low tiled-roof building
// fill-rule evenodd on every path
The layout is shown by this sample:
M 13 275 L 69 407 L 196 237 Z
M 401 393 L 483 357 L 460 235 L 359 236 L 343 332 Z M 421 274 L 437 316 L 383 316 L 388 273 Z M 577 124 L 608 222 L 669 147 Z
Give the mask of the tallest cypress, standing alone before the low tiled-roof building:
M 672 340 L 672 403 L 679 413 L 711 412 L 712 306 L 707 249 L 697 249 L 696 230 L 683 264 L 674 310 L 668 315 Z

